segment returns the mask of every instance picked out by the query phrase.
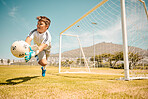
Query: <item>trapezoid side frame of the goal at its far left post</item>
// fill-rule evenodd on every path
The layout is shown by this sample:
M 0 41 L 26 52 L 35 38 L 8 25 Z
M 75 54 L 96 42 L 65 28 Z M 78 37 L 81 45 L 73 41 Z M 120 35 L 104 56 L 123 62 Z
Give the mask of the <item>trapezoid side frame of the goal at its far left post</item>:
M 69 40 L 66 39 L 66 37 Z M 88 73 L 90 72 L 85 54 L 78 35 L 62 34 L 60 40 L 63 38 L 64 48 L 66 49 L 77 49 L 72 51 L 63 52 L 62 61 L 59 65 L 59 73 Z M 66 40 L 66 41 L 65 41 Z M 72 41 L 72 42 L 71 42 Z M 68 42 L 67 45 L 65 43 Z M 73 43 L 75 42 L 75 43 Z M 79 53 L 77 53 L 79 52 Z M 61 56 L 59 57 L 61 58 Z M 61 60 L 61 59 L 60 59 Z

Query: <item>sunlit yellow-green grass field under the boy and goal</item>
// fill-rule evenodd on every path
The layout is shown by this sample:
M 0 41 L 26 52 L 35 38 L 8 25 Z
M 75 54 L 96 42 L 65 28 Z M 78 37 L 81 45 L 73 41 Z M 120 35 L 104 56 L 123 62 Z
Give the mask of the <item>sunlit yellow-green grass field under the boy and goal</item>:
M 59 74 L 52 66 L 42 77 L 40 66 L 0 66 L 0 99 L 148 99 L 148 80 L 120 77 Z

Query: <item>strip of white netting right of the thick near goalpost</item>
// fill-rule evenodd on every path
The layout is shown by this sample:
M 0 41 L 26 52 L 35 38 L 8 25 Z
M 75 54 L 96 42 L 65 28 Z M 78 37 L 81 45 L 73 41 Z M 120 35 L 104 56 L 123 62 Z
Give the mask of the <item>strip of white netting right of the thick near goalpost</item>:
M 148 77 L 148 19 L 138 1 L 126 1 L 130 77 Z

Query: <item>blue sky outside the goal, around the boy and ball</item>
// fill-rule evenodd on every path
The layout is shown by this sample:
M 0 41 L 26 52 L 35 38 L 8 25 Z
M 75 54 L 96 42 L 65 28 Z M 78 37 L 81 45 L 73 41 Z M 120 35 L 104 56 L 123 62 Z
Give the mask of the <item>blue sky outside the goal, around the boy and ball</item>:
M 37 16 L 51 20 L 51 53 L 59 51 L 59 34 L 102 0 L 0 0 L 0 59 L 17 59 L 10 47 L 36 28 Z M 148 1 L 146 0 L 148 6 Z

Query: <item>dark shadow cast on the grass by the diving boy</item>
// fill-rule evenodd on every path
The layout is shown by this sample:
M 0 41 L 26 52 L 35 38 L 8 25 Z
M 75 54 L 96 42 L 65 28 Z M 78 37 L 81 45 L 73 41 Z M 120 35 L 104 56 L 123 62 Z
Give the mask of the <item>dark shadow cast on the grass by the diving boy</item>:
M 33 78 L 37 78 L 39 76 L 33 76 L 33 77 L 19 77 L 19 78 L 13 78 L 13 79 L 8 79 L 6 80 L 7 83 L 0 83 L 0 85 L 16 85 L 16 84 L 20 84 L 26 81 L 29 81 Z

